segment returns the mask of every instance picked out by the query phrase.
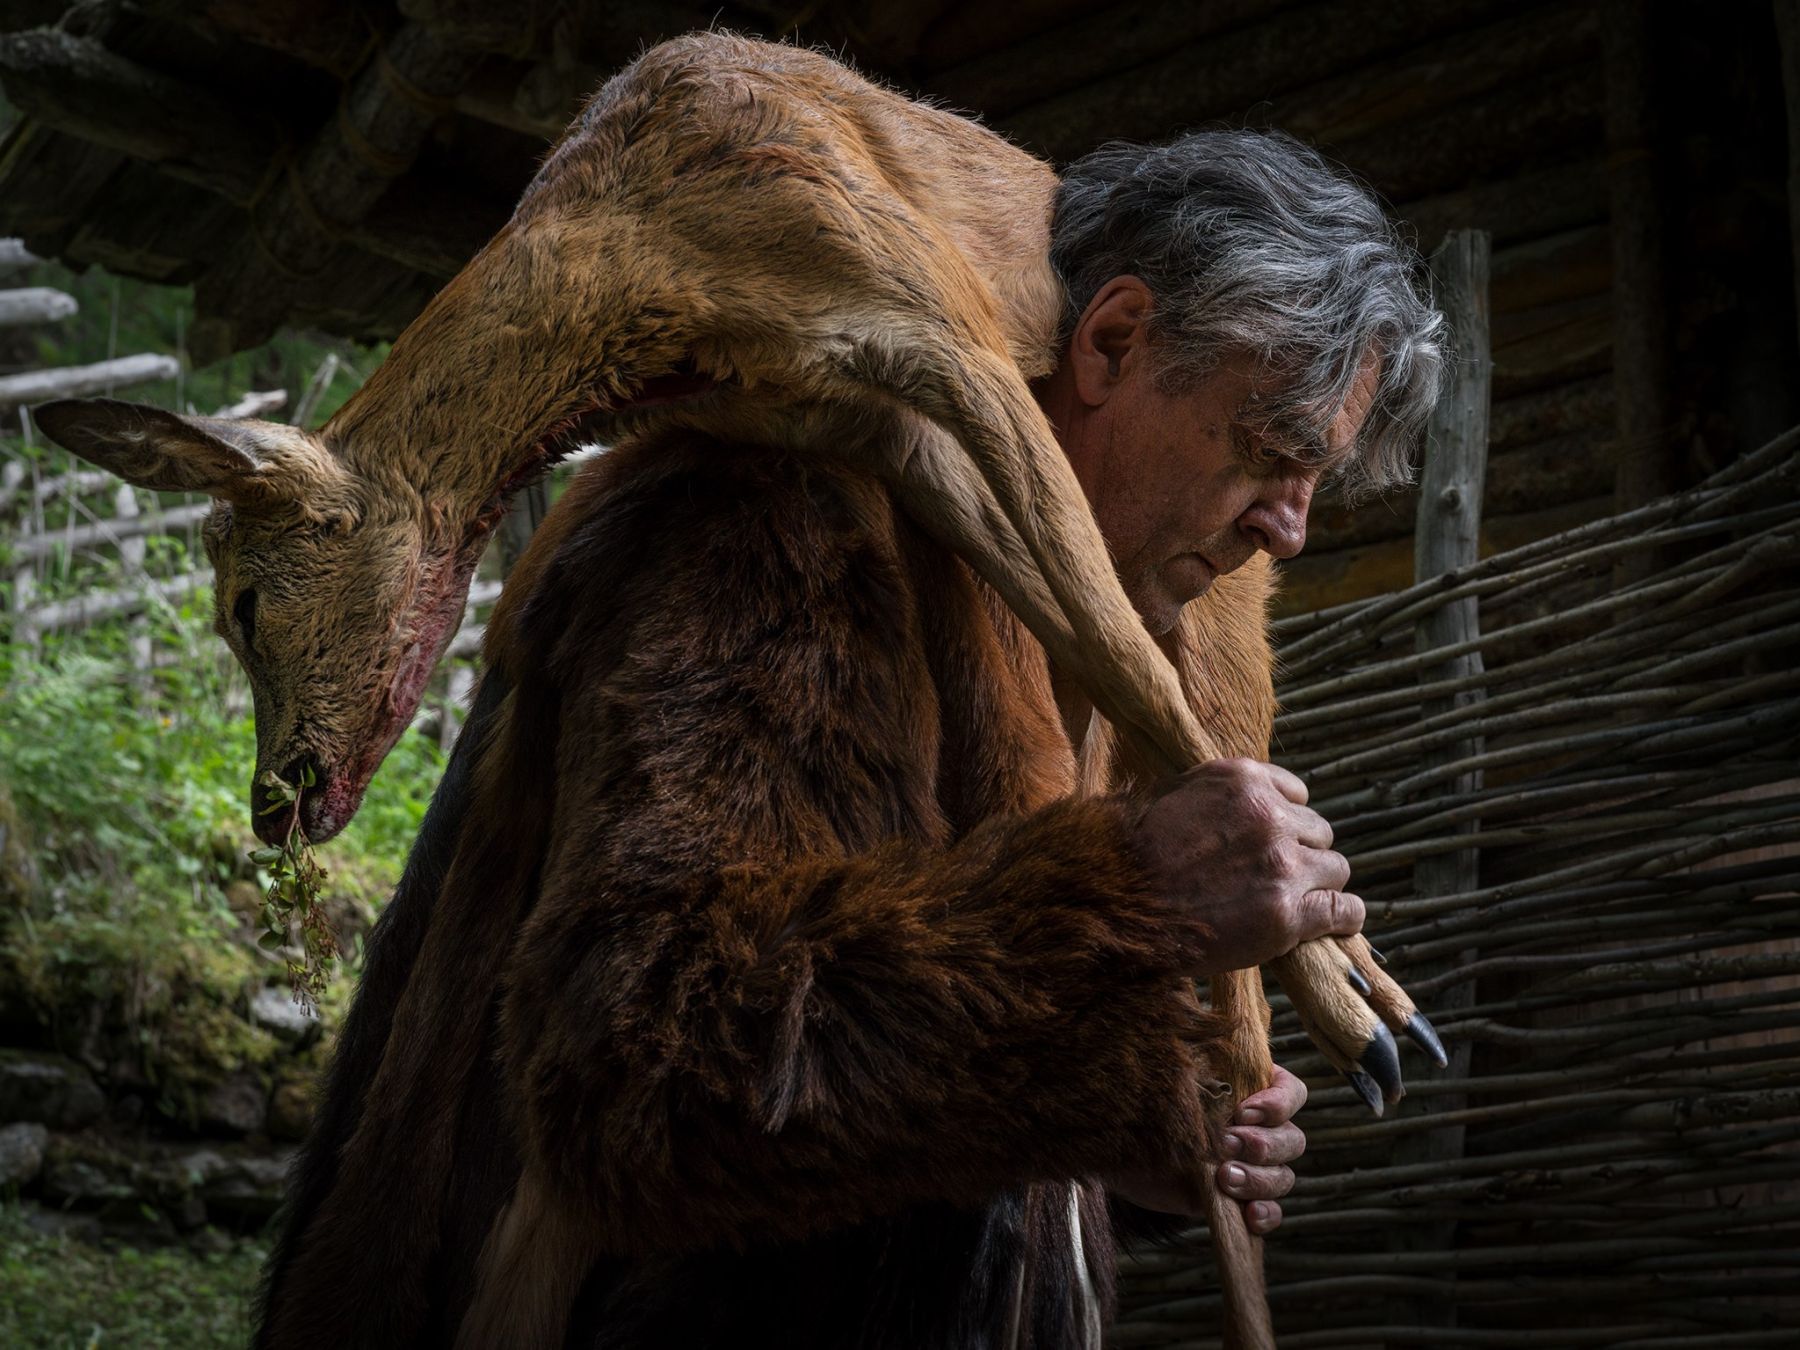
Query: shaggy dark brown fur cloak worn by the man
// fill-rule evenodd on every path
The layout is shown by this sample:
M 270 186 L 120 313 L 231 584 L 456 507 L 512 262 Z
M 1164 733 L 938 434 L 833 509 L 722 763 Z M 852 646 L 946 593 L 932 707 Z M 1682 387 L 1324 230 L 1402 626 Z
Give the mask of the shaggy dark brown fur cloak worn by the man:
M 1224 578 L 1179 653 L 1247 752 L 1265 589 Z M 1210 934 L 1087 751 L 873 481 L 616 450 L 490 625 L 257 1345 L 448 1345 L 522 1159 L 603 1253 L 571 1346 L 1084 1345 L 1129 1215 L 1093 1177 L 1195 1166 L 1219 1109 Z

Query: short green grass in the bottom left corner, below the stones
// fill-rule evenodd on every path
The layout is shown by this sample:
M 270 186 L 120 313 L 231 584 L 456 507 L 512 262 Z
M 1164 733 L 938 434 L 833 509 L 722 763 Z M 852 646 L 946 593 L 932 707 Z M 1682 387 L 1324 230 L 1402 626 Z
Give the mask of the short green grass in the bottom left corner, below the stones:
M 99 1249 L 0 1204 L 0 1345 L 20 1350 L 239 1350 L 263 1262 L 252 1242 Z

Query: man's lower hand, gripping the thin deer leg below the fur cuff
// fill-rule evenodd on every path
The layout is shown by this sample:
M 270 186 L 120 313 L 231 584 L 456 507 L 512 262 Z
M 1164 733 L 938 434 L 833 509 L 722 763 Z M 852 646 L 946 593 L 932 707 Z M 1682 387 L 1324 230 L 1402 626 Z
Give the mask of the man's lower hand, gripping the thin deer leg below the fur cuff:
M 1305 1103 L 1307 1085 L 1276 1064 L 1274 1082 L 1244 1098 L 1226 1129 L 1219 1190 L 1244 1202 L 1251 1233 L 1273 1233 L 1282 1226 L 1280 1199 L 1294 1188 L 1289 1163 L 1307 1148 L 1307 1136 L 1294 1125 L 1294 1112 Z M 1206 1193 L 1197 1177 L 1132 1172 L 1107 1177 L 1107 1190 L 1141 1210 L 1206 1215 Z

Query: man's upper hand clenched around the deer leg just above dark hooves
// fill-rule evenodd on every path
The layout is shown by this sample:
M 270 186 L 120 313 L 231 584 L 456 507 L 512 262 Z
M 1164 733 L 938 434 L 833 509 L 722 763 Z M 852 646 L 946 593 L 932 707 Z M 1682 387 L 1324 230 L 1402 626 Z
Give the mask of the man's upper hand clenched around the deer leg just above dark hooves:
M 1307 785 L 1256 760 L 1190 769 L 1138 821 L 1138 853 L 1163 893 L 1219 934 L 1195 974 L 1242 970 L 1309 938 L 1363 929 L 1350 864 Z

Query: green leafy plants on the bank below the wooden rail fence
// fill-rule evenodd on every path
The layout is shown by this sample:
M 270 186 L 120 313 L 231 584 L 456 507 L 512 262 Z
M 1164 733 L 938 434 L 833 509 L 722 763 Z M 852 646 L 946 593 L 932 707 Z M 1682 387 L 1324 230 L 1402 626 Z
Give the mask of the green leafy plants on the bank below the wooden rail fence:
M 103 1008 L 176 1114 L 182 1089 L 274 1053 L 268 1033 L 227 1013 L 284 979 L 256 941 L 268 884 L 248 860 L 256 736 L 230 711 L 241 677 L 209 612 L 200 592 L 151 617 L 155 646 L 180 657 L 149 673 L 133 671 L 122 626 L 47 637 L 40 653 L 0 650 L 0 792 L 34 873 L 0 911 L 5 983 L 58 1028 Z M 403 738 L 324 851 L 340 932 L 373 920 L 441 769 L 432 742 Z

